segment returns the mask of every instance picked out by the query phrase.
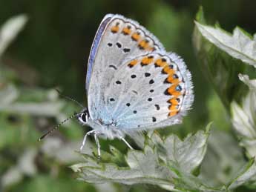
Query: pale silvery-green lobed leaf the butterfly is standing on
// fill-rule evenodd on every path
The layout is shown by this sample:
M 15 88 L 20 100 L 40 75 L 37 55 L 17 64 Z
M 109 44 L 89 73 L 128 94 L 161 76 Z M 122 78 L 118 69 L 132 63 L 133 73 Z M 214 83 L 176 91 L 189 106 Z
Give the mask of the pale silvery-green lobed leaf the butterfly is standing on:
M 84 154 L 85 162 L 71 166 L 79 174 L 79 179 L 85 182 L 119 182 L 124 184 L 147 183 L 180 191 L 175 188 L 177 183 L 183 185 L 183 176 L 195 178 L 191 172 L 200 165 L 206 153 L 206 142 L 209 137 L 209 128 L 206 132 L 198 131 L 189 135 L 183 141 L 171 135 L 162 139 L 153 132 L 146 136 L 145 146 L 142 151 L 128 150 L 125 162 L 116 163 L 120 153 L 102 153 L 101 159 Z M 106 156 L 107 155 L 107 156 Z M 170 166 L 177 168 L 172 170 Z M 180 174 L 180 175 L 178 175 Z M 201 185 L 201 184 L 200 184 Z

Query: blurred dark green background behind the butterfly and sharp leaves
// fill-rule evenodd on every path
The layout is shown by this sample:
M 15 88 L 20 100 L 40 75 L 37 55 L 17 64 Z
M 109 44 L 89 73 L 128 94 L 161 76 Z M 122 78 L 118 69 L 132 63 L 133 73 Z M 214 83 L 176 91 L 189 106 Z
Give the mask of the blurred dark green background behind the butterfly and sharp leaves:
M 0 191 L 164 191 L 148 185 L 90 185 L 76 181 L 68 165 L 81 162 L 73 151 L 79 149 L 89 129 L 75 121 L 63 125 L 45 142 L 37 142 L 42 133 L 79 110 L 59 98 L 53 88 L 86 103 L 88 55 L 97 27 L 107 13 L 139 21 L 163 42 L 166 50 L 182 56 L 191 70 L 193 110 L 183 125 L 161 130 L 163 134 L 178 133 L 183 137 L 211 121 L 214 128 L 232 133 L 229 114 L 194 56 L 191 36 L 200 5 L 209 24 L 219 21 L 229 31 L 238 25 L 249 33 L 256 32 L 256 1 L 249 0 L 0 0 L 0 26 L 21 13 L 29 19 L 1 56 L 0 99 L 10 99 L 10 105 L 0 106 Z M 119 141 L 100 142 L 105 150 L 110 143 L 126 150 Z

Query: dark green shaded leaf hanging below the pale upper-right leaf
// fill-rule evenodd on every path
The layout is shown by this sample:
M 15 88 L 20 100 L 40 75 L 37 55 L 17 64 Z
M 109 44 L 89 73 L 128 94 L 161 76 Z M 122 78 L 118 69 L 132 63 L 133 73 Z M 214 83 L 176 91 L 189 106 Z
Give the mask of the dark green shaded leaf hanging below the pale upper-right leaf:
M 237 75 L 246 70 L 246 65 L 206 39 L 201 33 L 201 28 L 205 25 L 200 24 L 199 21 L 205 21 L 202 9 L 197 13 L 193 34 L 198 64 L 216 90 L 223 105 L 229 110 L 230 103 L 234 99 L 240 101 L 240 96 L 245 91 L 245 86 L 237 79 Z

